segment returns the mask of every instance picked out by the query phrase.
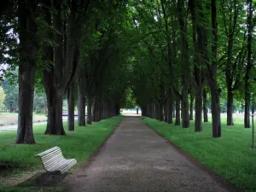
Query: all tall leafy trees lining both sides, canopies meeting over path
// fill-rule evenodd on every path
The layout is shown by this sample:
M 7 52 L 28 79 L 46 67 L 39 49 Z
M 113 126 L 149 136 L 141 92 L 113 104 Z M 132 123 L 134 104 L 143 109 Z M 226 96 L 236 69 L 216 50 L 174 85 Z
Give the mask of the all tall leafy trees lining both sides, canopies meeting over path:
M 249 127 L 254 12 L 252 0 L 9 1 L 1 12 L 0 63 L 9 71 L 19 63 L 16 143 L 35 143 L 35 86 L 47 98 L 45 134 L 65 135 L 64 96 L 69 131 L 75 101 L 85 125 L 85 105 L 91 124 L 118 114 L 133 96 L 143 115 L 168 123 L 175 116 L 176 125 L 182 115 L 183 128 L 195 108 L 195 131 L 202 131 L 211 101 L 212 137 L 221 136 L 220 97 L 226 96 L 227 125 L 236 100 L 244 103 Z

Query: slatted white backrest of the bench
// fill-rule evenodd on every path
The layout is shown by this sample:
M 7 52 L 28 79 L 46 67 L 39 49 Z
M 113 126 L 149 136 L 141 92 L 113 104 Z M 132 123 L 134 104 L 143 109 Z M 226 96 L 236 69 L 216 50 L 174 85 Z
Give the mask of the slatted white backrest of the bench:
M 61 148 L 59 147 L 49 148 L 43 153 L 36 154 L 36 157 L 41 157 L 44 168 L 47 171 L 52 167 L 59 165 L 62 160 L 65 160 L 61 153 Z

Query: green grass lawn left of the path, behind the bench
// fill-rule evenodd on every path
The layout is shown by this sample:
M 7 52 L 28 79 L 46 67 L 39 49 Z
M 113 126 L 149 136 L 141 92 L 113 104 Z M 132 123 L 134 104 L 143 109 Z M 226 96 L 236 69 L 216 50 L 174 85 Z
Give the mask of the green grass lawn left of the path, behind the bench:
M 64 123 L 67 136 L 44 135 L 45 125 L 37 125 L 34 126 L 37 144 L 34 145 L 16 145 L 16 131 L 4 131 L 0 134 L 0 166 L 2 164 L 16 167 L 15 172 L 42 169 L 41 160 L 35 158 L 34 155 L 55 146 L 61 148 L 65 158 L 78 160 L 79 166 L 86 163 L 90 155 L 113 132 L 121 119 L 122 116 L 117 116 L 85 127 L 76 126 L 75 131 L 67 131 L 67 123 Z M 2 191 L 1 188 L 0 191 Z

